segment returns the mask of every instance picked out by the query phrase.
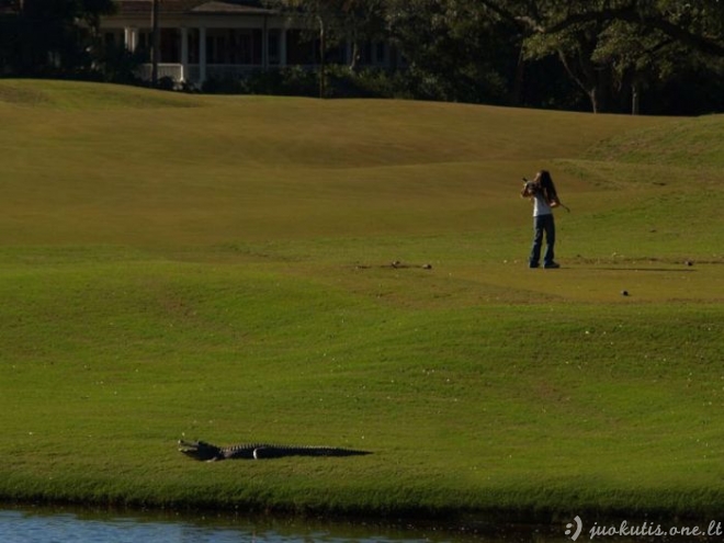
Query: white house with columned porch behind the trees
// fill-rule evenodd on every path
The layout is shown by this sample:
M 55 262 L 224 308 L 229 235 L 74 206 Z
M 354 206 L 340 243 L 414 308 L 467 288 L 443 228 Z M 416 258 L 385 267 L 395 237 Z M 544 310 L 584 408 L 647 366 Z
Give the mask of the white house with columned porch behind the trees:
M 101 20 L 106 44 L 150 50 L 152 0 L 117 0 L 117 12 Z M 290 65 L 315 66 L 315 44 L 302 36 L 303 23 L 254 0 L 160 0 L 158 77 L 200 86 L 210 78 L 240 78 L 250 71 Z M 349 44 L 327 61 L 349 63 Z M 389 66 L 386 43 L 366 44 L 360 64 Z M 151 65 L 142 66 L 150 79 Z

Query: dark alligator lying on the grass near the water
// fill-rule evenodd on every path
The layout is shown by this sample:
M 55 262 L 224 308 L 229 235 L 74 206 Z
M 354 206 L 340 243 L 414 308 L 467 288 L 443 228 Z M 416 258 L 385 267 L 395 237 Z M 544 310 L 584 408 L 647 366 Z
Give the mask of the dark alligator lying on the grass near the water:
M 268 443 L 245 443 L 230 446 L 216 446 L 205 441 L 179 440 L 179 451 L 186 456 L 205 462 L 219 460 L 261 460 L 283 456 L 358 456 L 371 454 L 367 451 L 340 449 L 337 446 L 272 445 Z

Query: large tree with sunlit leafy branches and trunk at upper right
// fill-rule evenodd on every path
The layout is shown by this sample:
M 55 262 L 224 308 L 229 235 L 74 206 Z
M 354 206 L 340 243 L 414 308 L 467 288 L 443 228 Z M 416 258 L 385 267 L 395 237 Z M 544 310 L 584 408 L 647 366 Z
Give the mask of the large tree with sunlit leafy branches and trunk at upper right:
M 637 94 L 647 79 L 686 64 L 692 50 L 724 56 L 720 0 L 479 1 L 518 25 L 527 58 L 557 56 L 595 112 L 609 108 L 614 91 Z

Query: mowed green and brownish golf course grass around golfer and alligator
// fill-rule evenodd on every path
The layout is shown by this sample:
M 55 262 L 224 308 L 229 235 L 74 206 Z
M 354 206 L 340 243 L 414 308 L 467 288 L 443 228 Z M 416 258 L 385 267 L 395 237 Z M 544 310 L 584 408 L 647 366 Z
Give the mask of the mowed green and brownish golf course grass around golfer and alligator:
M 724 506 L 724 117 L 0 80 L 0 497 Z M 556 271 L 525 267 L 540 168 Z

